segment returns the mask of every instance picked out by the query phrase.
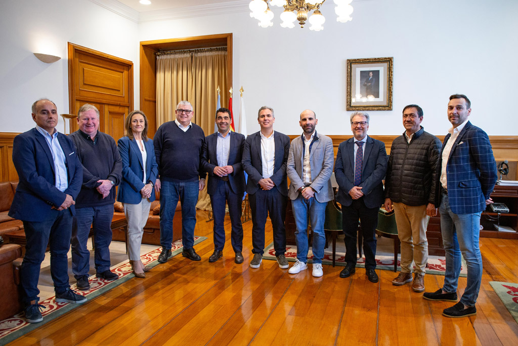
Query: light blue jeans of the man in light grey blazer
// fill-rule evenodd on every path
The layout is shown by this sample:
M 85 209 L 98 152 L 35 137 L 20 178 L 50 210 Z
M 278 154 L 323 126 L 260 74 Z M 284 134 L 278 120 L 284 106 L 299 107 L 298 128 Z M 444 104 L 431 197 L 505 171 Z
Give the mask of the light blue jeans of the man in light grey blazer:
M 311 223 L 313 264 L 322 263 L 325 247 L 324 222 L 326 205 L 327 202 L 320 203 L 314 197 L 307 200 L 300 193 L 297 199 L 292 200 L 293 216 L 297 226 L 295 231 L 297 259 L 301 262 L 306 263 L 308 261 L 308 224 Z

